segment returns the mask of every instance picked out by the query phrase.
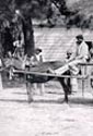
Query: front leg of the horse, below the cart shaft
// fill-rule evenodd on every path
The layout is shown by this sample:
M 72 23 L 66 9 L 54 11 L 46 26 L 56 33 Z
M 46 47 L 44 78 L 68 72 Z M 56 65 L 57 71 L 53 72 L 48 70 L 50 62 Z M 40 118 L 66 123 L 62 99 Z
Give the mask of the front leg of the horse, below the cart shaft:
M 30 82 L 26 83 L 26 91 L 27 91 L 28 103 L 31 103 L 33 102 L 33 84 Z

